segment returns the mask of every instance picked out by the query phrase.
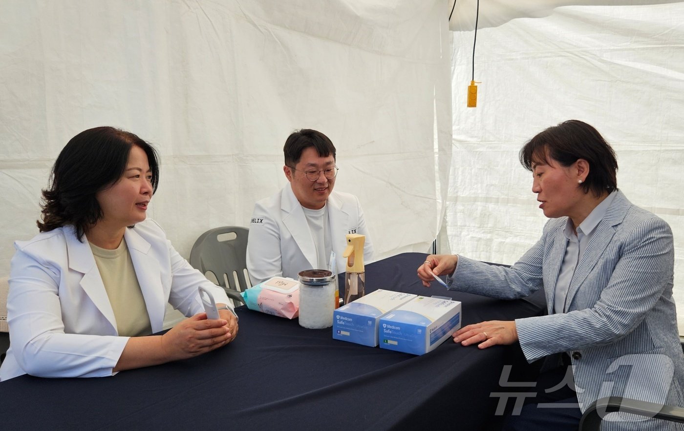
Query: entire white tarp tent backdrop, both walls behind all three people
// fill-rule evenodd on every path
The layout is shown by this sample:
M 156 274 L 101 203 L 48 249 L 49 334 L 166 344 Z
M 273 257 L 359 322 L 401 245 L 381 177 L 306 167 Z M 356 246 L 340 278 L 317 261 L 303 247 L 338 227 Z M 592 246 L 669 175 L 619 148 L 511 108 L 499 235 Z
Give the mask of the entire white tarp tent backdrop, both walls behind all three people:
M 453 42 L 451 0 L 0 2 L 0 277 L 37 232 L 54 158 L 103 124 L 159 148 L 149 212 L 186 257 L 205 230 L 248 225 L 285 184 L 285 137 L 310 127 L 337 145 L 378 258 L 427 251 L 445 202 L 443 251 L 510 264 L 546 220 L 518 149 L 577 118 L 672 226 L 682 305 L 684 3 L 481 2 L 468 109 L 475 1 L 458 1 Z

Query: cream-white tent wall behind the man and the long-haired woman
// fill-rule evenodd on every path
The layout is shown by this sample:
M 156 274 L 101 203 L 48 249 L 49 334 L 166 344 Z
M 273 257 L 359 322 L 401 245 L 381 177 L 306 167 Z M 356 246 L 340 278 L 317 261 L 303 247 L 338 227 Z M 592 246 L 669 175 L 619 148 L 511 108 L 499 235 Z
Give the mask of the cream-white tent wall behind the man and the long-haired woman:
M 186 258 L 287 183 L 297 128 L 337 146 L 336 189 L 360 198 L 376 258 L 428 251 L 451 157 L 447 12 L 445 0 L 1 2 L 0 277 L 12 242 L 38 232 L 57 154 L 101 125 L 159 150 L 148 216 Z

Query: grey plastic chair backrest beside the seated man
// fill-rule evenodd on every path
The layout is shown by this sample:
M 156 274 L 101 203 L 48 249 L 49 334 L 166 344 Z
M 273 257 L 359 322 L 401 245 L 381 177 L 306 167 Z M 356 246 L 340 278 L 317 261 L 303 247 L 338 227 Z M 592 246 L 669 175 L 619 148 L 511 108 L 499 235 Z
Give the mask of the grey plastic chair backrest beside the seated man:
M 190 264 L 202 274 L 212 273 L 231 298 L 252 287 L 246 275 L 248 235 L 246 227 L 216 227 L 200 235 L 190 251 Z

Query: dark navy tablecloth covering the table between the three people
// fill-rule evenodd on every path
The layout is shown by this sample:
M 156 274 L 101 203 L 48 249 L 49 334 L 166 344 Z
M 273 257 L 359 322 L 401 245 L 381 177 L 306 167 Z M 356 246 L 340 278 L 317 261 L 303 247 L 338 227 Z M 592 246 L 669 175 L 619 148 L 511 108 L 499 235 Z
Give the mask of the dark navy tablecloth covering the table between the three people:
M 462 301 L 463 324 L 538 316 L 516 301 L 451 292 L 416 275 L 424 253 L 366 266 L 378 288 Z M 343 283 L 343 275 L 339 277 Z M 341 293 L 342 296 L 342 293 Z M 0 383 L 3 430 L 492 430 L 504 365 L 534 373 L 518 345 L 479 350 L 447 339 L 422 356 L 332 339 L 238 307 L 235 342 L 194 359 L 106 378 L 20 376 Z M 509 391 L 524 391 L 507 387 Z M 510 401 L 512 403 L 512 400 Z

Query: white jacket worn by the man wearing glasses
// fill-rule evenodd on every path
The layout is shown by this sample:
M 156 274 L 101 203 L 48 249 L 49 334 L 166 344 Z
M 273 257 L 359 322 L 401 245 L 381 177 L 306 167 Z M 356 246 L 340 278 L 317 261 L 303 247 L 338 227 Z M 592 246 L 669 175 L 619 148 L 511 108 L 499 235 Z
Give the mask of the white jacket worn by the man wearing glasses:
M 347 260 L 347 234 L 365 235 L 363 259 L 373 258 L 373 242 L 368 234 L 358 198 L 332 191 L 328 197 L 330 240 L 337 256 L 337 273 L 343 273 Z M 247 241 L 247 270 L 254 285 L 271 277 L 298 279 L 298 274 L 317 268 L 318 258 L 302 205 L 288 183 L 275 195 L 254 205 Z

